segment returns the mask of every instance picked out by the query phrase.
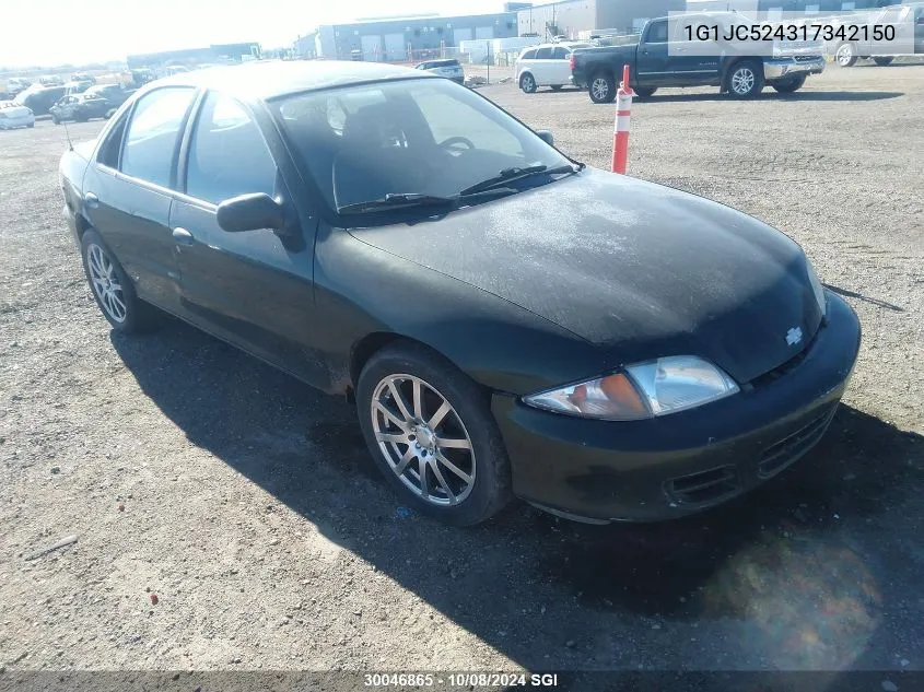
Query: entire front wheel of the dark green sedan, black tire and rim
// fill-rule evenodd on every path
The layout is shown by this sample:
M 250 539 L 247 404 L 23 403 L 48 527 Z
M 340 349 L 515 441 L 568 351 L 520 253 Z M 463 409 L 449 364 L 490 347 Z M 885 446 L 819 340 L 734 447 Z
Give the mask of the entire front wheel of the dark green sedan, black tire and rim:
M 422 415 L 417 419 L 414 380 L 420 383 L 421 391 Z M 407 415 L 395 399 L 393 386 Z M 448 411 L 444 409 L 446 404 L 451 407 Z M 375 353 L 359 378 L 356 410 L 376 466 L 402 502 L 421 514 L 453 526 L 471 526 L 510 502 L 510 462 L 489 397 L 437 353 L 410 342 L 398 342 Z M 432 426 L 422 423 L 433 421 L 440 411 L 444 411 L 440 422 Z M 379 439 L 384 435 L 397 441 Z M 454 439 L 458 446 L 441 446 L 441 439 Z M 469 448 L 463 448 L 464 444 Z M 446 460 L 451 466 L 444 464 Z M 399 476 L 397 467 L 401 462 L 407 468 Z M 426 499 L 422 492 L 424 483 L 419 480 L 421 468 Z

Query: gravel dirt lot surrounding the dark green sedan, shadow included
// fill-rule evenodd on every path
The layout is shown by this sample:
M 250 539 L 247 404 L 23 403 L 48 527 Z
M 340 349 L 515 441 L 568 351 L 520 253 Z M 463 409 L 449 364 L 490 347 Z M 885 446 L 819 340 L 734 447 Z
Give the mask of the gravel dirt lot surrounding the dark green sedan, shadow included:
M 608 165 L 611 107 L 482 93 Z M 922 103 L 924 66 L 636 104 L 631 173 L 785 231 L 865 340 L 783 477 L 593 529 L 407 516 L 344 402 L 172 320 L 112 335 L 60 215 L 63 129 L 0 132 L 0 666 L 924 669 Z

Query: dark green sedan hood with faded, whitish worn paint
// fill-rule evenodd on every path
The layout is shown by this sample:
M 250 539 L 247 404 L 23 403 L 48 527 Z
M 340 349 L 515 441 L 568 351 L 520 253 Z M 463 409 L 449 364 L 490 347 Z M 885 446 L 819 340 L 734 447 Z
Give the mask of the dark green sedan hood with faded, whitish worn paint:
M 555 322 L 610 367 L 691 354 L 747 383 L 797 355 L 822 319 L 805 255 L 782 233 L 600 171 L 351 233 Z

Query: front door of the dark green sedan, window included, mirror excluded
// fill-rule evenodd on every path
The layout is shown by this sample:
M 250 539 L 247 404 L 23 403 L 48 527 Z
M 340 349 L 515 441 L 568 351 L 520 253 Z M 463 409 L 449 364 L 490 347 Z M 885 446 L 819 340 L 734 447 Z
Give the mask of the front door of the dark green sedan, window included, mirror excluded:
M 314 342 L 316 220 L 301 235 L 271 228 L 229 233 L 218 206 L 265 192 L 294 203 L 278 160 L 288 154 L 273 128 L 249 106 L 210 92 L 185 144 L 185 193 L 171 211 L 184 313 L 195 324 L 308 383 L 323 383 Z M 269 138 L 267 137 L 269 136 Z M 297 214 L 297 212 L 294 212 Z

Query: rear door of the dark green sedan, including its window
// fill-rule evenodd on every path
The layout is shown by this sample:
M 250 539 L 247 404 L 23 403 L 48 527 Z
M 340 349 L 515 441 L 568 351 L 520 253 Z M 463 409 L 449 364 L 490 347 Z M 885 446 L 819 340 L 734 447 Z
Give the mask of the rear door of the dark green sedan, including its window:
M 142 96 L 107 132 L 84 178 L 84 206 L 140 297 L 180 312 L 169 210 L 176 159 L 196 90 Z

